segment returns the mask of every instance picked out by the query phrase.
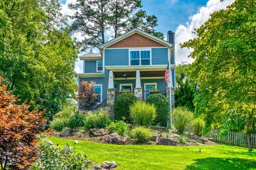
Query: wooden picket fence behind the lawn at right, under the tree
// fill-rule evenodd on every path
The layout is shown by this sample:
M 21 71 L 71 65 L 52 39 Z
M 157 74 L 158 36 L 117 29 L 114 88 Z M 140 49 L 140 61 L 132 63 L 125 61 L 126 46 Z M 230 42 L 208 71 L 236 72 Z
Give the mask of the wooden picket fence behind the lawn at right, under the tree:
M 193 133 L 192 126 L 186 128 L 187 132 Z M 221 129 L 212 129 L 212 132 L 205 134 L 207 138 L 212 138 L 214 141 L 232 144 L 235 146 L 248 147 L 247 135 L 242 132 L 230 131 L 225 137 L 220 137 Z M 256 148 L 256 134 L 252 134 L 251 138 L 253 148 Z

